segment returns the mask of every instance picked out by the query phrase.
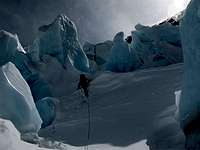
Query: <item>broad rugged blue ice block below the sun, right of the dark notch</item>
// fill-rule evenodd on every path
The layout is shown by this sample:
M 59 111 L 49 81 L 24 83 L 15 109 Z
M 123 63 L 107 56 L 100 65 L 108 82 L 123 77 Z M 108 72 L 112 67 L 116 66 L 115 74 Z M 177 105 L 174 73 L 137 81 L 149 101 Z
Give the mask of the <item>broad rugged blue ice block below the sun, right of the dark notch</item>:
M 182 62 L 179 26 L 169 22 L 152 27 L 136 25 L 132 32 L 131 49 L 143 67 L 166 66 Z

